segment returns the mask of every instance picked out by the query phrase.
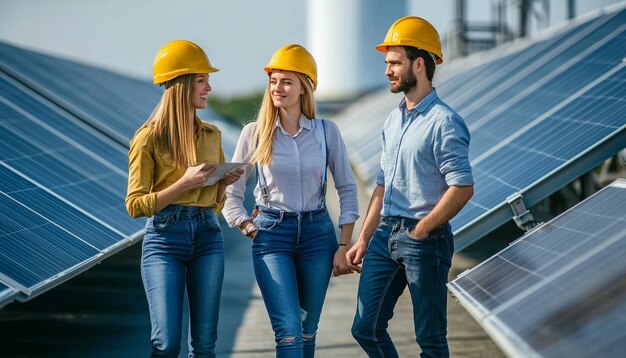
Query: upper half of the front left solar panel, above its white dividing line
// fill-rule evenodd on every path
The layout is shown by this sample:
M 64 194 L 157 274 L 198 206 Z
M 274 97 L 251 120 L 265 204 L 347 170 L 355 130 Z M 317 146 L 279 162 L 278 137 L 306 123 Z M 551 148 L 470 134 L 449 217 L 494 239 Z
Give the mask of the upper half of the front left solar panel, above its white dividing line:
M 62 127 L 61 127 L 62 124 Z M 125 235 L 127 152 L 0 78 L 0 160 Z M 62 130 L 62 132 L 61 132 Z

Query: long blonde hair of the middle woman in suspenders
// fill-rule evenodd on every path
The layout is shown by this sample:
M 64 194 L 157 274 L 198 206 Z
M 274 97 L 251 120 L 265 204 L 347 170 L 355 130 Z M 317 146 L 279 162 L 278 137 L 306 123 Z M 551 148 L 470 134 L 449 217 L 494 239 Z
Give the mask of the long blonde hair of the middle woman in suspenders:
M 300 73 L 294 73 L 304 93 L 300 96 L 300 111 L 308 119 L 315 118 L 315 100 L 313 98 L 313 83 L 309 78 Z M 271 75 L 271 73 L 270 73 Z M 272 94 L 270 93 L 270 83 L 268 81 L 265 89 L 265 95 L 263 95 L 263 102 L 259 108 L 259 113 L 256 118 L 256 129 L 253 134 L 253 143 L 257 144 L 256 150 L 250 158 L 251 164 L 269 165 L 272 163 L 272 147 L 274 144 L 274 133 L 276 133 L 276 121 L 279 120 L 279 109 L 274 106 L 272 101 Z

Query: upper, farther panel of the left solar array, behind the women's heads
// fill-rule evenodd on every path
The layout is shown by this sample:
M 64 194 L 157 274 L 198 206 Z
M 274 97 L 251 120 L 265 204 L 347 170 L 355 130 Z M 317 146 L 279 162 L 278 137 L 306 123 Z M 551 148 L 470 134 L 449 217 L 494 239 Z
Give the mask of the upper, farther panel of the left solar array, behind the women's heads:
M 3 67 L 122 144 L 130 141 L 163 93 L 159 86 L 148 81 L 0 42 L 0 68 Z M 59 73 L 63 74 L 62 78 Z M 224 152 L 230 158 L 240 129 L 221 119 L 211 108 L 198 111 L 198 115 L 220 128 Z

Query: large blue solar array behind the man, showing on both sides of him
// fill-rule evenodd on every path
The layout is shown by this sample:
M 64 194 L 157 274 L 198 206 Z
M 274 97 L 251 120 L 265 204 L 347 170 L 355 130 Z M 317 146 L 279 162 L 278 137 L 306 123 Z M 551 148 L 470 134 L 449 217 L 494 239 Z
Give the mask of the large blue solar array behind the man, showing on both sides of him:
M 457 250 L 511 219 L 509 196 L 531 206 L 626 147 L 625 57 L 621 5 L 435 76 L 472 135 L 475 194 L 452 220 Z M 340 118 L 352 162 L 370 182 L 382 123 L 400 99 L 371 96 Z

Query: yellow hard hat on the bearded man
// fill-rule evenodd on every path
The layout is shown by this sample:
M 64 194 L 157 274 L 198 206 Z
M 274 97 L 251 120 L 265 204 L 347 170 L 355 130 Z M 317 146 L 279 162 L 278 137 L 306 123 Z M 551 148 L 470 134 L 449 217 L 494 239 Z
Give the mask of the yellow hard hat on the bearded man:
M 385 40 L 376 49 L 387 52 L 387 46 L 411 46 L 428 51 L 437 57 L 436 64 L 443 62 L 441 41 L 435 27 L 417 16 L 406 16 L 391 25 Z

